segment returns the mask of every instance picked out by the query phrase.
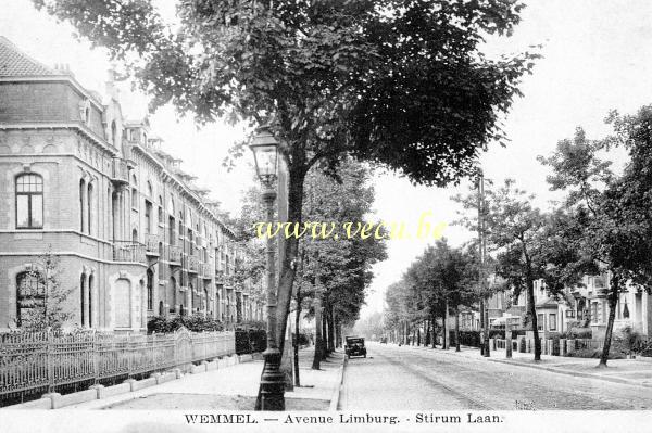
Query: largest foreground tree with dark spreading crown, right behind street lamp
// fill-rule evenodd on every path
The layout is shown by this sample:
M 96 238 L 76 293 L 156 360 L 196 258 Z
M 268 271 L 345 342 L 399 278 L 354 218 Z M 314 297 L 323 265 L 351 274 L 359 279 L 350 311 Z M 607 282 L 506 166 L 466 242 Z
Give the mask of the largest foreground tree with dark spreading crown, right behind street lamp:
M 200 123 L 267 125 L 281 142 L 296 222 L 309 169 L 335 169 L 344 154 L 428 184 L 469 174 L 480 150 L 504 141 L 499 117 L 536 58 L 479 50 L 485 35 L 512 33 L 515 1 L 188 0 L 174 25 L 148 0 L 33 1 L 123 61 L 152 109 L 172 102 Z M 279 336 L 298 244 L 285 243 Z

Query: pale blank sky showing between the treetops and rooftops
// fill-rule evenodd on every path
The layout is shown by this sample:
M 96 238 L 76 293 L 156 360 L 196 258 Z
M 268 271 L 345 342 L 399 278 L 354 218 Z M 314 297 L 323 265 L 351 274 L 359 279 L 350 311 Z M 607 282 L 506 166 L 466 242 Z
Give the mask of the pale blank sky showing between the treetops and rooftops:
M 161 2 L 172 14 L 172 1 Z M 648 0 L 546 0 L 526 1 L 522 22 L 511 38 L 488 40 L 489 55 L 522 52 L 542 44 L 543 59 L 521 86 L 524 97 L 515 100 L 505 118 L 510 143 L 493 145 L 481 157 L 488 178 L 497 182 L 514 178 L 517 186 L 536 193 L 535 204 L 546 208 L 559 195 L 548 191 L 548 169 L 537 162 L 550 155 L 556 142 L 573 137 L 581 126 L 589 138 L 609 133 L 603 119 L 611 110 L 631 113 L 652 101 L 652 2 Z M 104 90 L 108 56 L 101 49 L 73 37 L 72 28 L 37 12 L 28 0 L 0 0 L 0 35 L 48 65 L 68 64 L 79 82 Z M 129 118 L 147 114 L 147 98 L 122 92 L 123 111 Z M 253 181 L 251 157 L 240 160 L 227 173 L 221 162 L 229 147 L 243 138 L 243 129 L 215 123 L 198 129 L 192 118 L 179 118 L 171 107 L 150 114 L 152 131 L 164 140 L 164 149 L 184 160 L 186 171 L 198 176 L 223 207 L 237 214 L 241 192 Z M 613 156 L 622 161 L 622 155 Z M 416 229 L 419 216 L 430 212 L 430 221 L 452 222 L 459 206 L 450 196 L 457 188 L 412 186 L 386 170 L 375 175 L 375 219 L 404 221 Z M 471 239 L 461 227 L 447 227 L 443 234 L 453 245 Z M 388 259 L 374 268 L 367 305 L 362 316 L 383 309 L 385 289 L 427 246 L 426 241 L 396 240 L 388 243 Z

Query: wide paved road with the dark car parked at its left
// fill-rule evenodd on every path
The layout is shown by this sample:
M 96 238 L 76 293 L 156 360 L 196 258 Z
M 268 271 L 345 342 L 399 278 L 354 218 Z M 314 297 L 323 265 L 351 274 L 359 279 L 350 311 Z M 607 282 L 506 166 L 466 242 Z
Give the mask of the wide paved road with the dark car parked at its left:
M 652 409 L 652 389 L 575 378 L 441 349 L 369 343 L 351 358 L 343 410 Z

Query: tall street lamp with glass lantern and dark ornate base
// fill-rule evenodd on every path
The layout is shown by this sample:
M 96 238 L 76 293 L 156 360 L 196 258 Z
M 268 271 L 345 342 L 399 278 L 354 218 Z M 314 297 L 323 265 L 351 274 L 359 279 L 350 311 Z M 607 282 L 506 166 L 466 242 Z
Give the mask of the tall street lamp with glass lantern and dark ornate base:
M 278 167 L 278 141 L 266 128 L 256 130 L 249 148 L 253 152 L 255 173 L 263 186 L 266 222 L 274 224 L 274 189 Z M 276 344 L 276 245 L 267 238 L 267 348 L 263 352 L 265 368 L 261 377 L 261 410 L 285 410 L 285 375 L 280 371 L 280 351 Z

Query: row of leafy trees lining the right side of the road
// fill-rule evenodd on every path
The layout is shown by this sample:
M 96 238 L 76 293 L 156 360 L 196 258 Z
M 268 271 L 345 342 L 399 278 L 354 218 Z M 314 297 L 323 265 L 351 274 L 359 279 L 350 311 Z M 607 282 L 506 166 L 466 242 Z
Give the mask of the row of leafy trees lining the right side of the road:
M 535 334 L 536 360 L 541 356 L 536 280 L 546 282 L 549 295 L 563 300 L 567 296 L 566 289 L 581 285 L 585 275 L 610 276 L 604 293 L 609 317 L 600 366 L 607 362 L 620 293 L 650 291 L 652 286 L 652 106 L 643 106 L 635 115 L 614 112 L 606 122 L 614 129 L 609 137 L 590 140 L 578 128 L 572 139 L 561 140 L 551 155 L 539 157 L 552 170 L 547 178 L 550 189 L 564 194 L 563 201 L 548 212 L 535 207 L 535 196 L 517 188 L 512 179 L 500 186 L 490 184 L 481 201 L 477 191 L 453 198 L 465 209 L 459 222 L 480 231 L 486 239 L 492 258 L 485 272 L 502 279 L 493 289 L 513 291 L 514 296 L 525 292 L 526 322 Z M 627 154 L 622 173 L 615 173 L 606 160 L 614 150 Z M 478 225 L 478 220 L 484 224 Z M 444 243 L 428 249 L 403 279 L 389 288 L 387 324 L 396 326 L 400 320 L 415 322 L 427 315 L 434 319 L 437 311 L 443 311 L 439 313 L 441 317 L 463 304 L 452 301 L 448 294 L 451 292 L 446 292 L 443 285 L 439 291 L 447 295 L 437 295 L 435 288 L 440 286 L 437 273 L 424 280 L 429 286 L 419 282 L 418 276 L 424 275 L 419 269 L 437 269 L 452 260 L 442 258 L 449 250 Z M 463 252 L 457 254 L 464 257 Z M 478 263 L 473 257 L 468 260 Z M 465 268 L 462 262 L 456 266 L 457 271 L 465 269 L 463 283 L 455 289 L 456 295 L 462 296 L 460 300 L 468 292 L 467 288 L 486 285 L 477 280 L 477 267 Z M 456 281 L 455 278 L 451 281 Z M 490 293 L 486 291 L 484 296 Z M 432 301 L 436 304 L 428 304 Z

